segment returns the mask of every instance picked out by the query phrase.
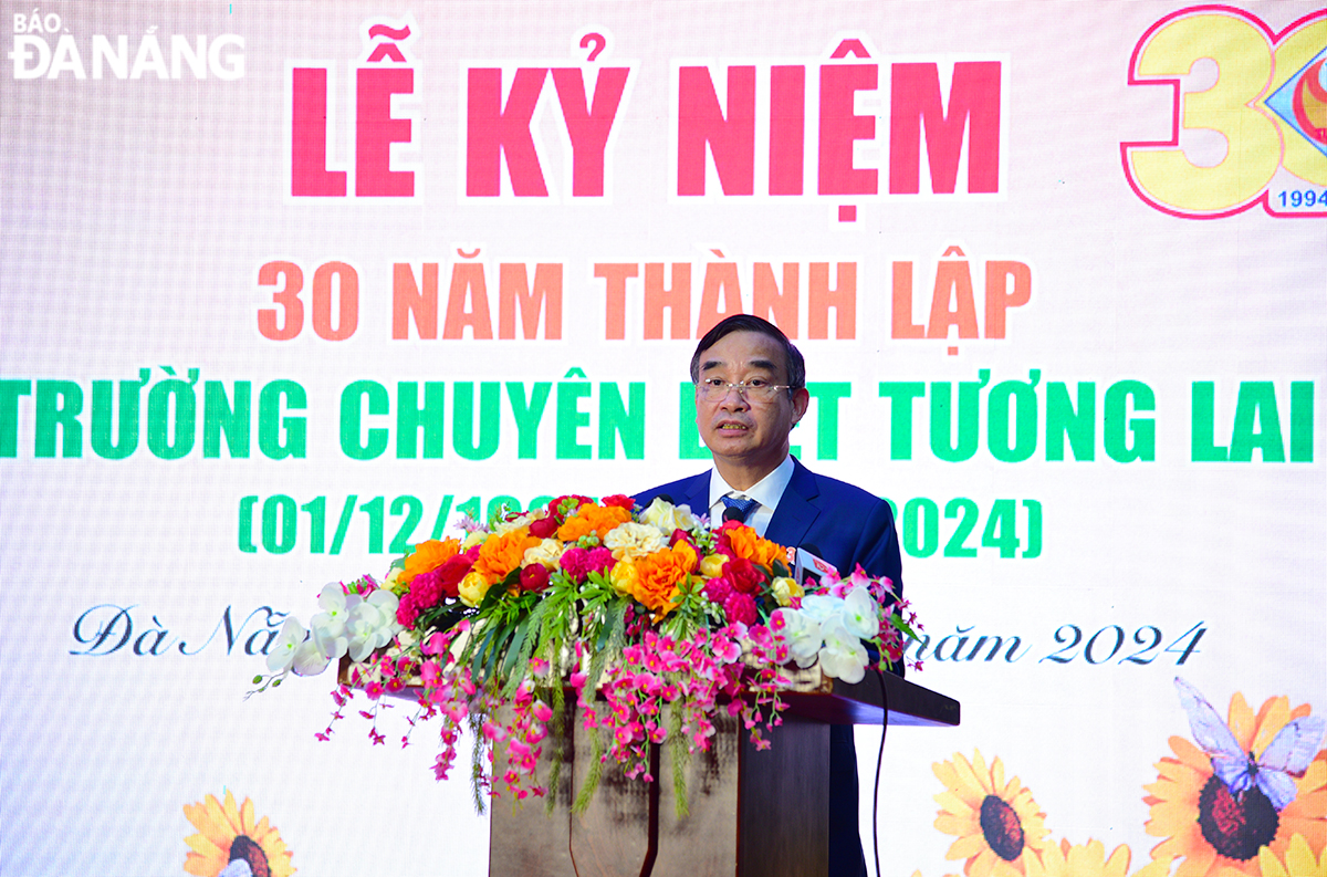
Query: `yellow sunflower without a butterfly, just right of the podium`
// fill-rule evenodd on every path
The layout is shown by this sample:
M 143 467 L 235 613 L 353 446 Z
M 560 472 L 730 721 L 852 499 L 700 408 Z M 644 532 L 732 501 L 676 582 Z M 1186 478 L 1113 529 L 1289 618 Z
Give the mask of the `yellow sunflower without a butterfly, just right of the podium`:
M 932 766 L 945 792 L 936 796 L 940 813 L 936 828 L 955 840 L 945 858 L 966 858 L 967 877 L 1024 874 L 1024 862 L 1046 837 L 1046 813 L 1018 777 L 1005 781 L 1005 766 L 997 758 L 986 767 L 979 751 L 971 763 L 954 752 L 953 762 Z

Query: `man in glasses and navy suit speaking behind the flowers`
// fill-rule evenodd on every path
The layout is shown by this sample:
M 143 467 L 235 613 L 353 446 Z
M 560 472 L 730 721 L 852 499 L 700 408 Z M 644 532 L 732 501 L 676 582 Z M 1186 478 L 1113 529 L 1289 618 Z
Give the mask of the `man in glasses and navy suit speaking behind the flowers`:
M 889 504 L 816 475 L 788 452 L 788 434 L 807 413 L 802 353 L 774 324 L 734 314 L 710 329 L 691 356 L 695 423 L 714 456 L 706 472 L 636 496 L 664 496 L 711 521 L 743 520 L 762 536 L 804 548 L 844 574 L 859 564 L 902 593 L 898 537 Z M 902 671 L 898 667 L 897 671 Z M 829 734 L 829 874 L 865 877 L 857 832 L 857 755 L 852 726 Z

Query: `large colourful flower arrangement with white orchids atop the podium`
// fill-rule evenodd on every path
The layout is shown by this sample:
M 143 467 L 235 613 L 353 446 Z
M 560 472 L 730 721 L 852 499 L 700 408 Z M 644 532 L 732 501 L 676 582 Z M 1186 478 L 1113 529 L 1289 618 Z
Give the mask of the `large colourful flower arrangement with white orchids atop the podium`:
M 551 776 L 537 767 L 545 746 L 561 746 L 568 693 L 593 763 L 653 781 L 652 744 L 667 743 L 682 764 L 709 747 L 713 719 L 726 711 L 768 747 L 763 732 L 780 723 L 779 695 L 795 669 L 819 665 L 824 677 L 859 682 L 868 666 L 900 661 L 904 638 L 916 636 L 916 617 L 888 578 L 829 569 L 799 582 L 788 549 L 736 521 L 711 531 L 660 499 L 636 511 L 629 496 L 561 496 L 487 525 L 463 520 L 462 529 L 462 539 L 419 543 L 382 581 L 324 588 L 322 612 L 308 629 L 287 618 L 268 653 L 271 674 L 253 682 L 263 690 L 340 661 L 337 710 L 318 738 L 362 690 L 374 744 L 385 742 L 384 695 L 410 697 L 411 731 L 421 722 L 439 728 L 439 780 L 468 726 L 479 809 L 486 795 L 544 796 L 556 783 L 560 759 L 551 759 Z M 673 779 L 681 809 L 683 774 Z M 597 781 L 594 771 L 573 809 Z

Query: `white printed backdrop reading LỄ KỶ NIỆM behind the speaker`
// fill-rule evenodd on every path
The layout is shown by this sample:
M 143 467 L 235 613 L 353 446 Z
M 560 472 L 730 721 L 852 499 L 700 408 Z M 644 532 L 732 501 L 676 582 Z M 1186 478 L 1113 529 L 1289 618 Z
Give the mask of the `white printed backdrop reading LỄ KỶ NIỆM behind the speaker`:
M 1319 861 L 1320 4 L 4 21 L 5 874 L 215 874 L 235 835 L 484 873 L 427 726 L 322 743 L 330 674 L 251 679 L 463 512 L 709 466 L 686 365 L 736 310 L 807 356 L 803 462 L 896 504 L 912 678 L 962 702 L 889 731 L 884 873 Z M 1290 800 L 1210 779 L 1176 677 Z

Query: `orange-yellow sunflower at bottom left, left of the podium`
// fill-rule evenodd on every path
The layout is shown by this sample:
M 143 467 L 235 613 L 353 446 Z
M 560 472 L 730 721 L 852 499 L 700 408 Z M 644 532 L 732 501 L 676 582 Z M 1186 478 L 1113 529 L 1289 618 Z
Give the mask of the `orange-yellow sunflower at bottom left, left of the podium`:
M 226 791 L 226 801 L 208 795 L 198 804 L 186 804 L 184 816 L 199 833 L 184 843 L 192 852 L 184 857 L 184 872 L 196 877 L 218 877 L 236 860 L 244 860 L 253 877 L 289 877 L 291 850 L 267 816 L 253 821 L 253 801 L 244 799 L 236 808 L 235 796 Z M 227 873 L 236 873 L 234 869 Z

